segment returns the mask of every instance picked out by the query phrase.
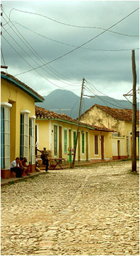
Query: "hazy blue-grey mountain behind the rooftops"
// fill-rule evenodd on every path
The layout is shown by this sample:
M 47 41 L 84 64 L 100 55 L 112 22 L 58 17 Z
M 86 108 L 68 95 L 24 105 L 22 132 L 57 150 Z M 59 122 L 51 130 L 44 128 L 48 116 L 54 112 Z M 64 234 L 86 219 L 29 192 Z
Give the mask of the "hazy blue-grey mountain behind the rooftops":
M 45 101 L 42 103 L 36 103 L 36 106 L 54 111 L 56 113 L 65 113 L 72 118 L 78 117 L 80 97 L 73 92 L 57 89 L 44 98 Z M 94 98 L 83 97 L 81 103 L 81 113 L 85 112 L 94 104 L 108 106 L 110 108 L 132 109 L 132 104 L 127 100 L 117 100 L 108 96 L 95 95 Z M 139 109 L 139 104 L 137 104 L 137 109 Z

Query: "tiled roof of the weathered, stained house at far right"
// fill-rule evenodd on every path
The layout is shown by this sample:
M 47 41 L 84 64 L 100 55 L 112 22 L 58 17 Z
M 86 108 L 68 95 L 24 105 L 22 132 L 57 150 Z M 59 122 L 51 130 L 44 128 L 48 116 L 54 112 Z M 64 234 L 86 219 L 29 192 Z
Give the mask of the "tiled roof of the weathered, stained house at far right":
M 132 109 L 109 108 L 98 104 L 95 104 L 94 106 L 102 109 L 103 111 L 105 111 L 106 113 L 108 113 L 109 115 L 113 116 L 118 120 L 132 122 Z M 94 106 L 87 109 L 87 111 L 85 111 L 81 116 L 85 115 L 85 113 L 87 113 L 90 109 L 94 108 Z M 139 111 L 137 111 L 137 122 L 139 122 Z

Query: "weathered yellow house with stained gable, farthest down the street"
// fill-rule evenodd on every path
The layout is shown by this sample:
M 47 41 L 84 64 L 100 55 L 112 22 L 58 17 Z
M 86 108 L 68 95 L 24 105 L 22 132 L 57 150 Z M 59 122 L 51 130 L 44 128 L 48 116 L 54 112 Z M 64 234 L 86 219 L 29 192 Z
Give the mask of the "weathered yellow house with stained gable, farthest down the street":
M 113 159 L 125 159 L 131 156 L 132 146 L 132 110 L 115 109 L 95 104 L 81 115 L 83 122 L 102 125 L 116 130 L 112 134 Z M 139 131 L 139 111 L 137 111 L 137 131 Z M 137 138 L 137 156 L 139 156 L 139 138 Z

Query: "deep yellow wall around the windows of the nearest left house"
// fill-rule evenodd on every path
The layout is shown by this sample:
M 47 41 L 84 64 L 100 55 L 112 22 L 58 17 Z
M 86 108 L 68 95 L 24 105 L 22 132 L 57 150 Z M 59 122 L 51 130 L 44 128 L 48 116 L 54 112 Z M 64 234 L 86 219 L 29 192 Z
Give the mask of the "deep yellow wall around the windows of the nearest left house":
M 12 104 L 10 109 L 10 161 L 13 161 L 15 157 L 20 156 L 20 110 L 27 109 L 31 111 L 29 117 L 35 115 L 34 99 L 17 86 L 1 78 L 1 102 Z

